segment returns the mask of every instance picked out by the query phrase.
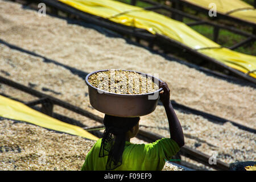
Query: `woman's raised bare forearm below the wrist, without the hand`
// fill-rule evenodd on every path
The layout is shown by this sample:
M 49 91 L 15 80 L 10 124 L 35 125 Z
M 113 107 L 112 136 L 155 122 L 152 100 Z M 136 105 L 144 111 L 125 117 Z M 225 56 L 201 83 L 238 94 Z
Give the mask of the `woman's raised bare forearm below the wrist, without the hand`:
M 172 107 L 171 101 L 169 103 L 164 104 L 164 109 L 166 110 L 168 122 L 169 122 L 169 129 L 171 139 L 175 140 L 175 142 L 179 145 L 179 147 L 184 146 L 184 135 L 183 130 L 180 125 L 179 119 Z

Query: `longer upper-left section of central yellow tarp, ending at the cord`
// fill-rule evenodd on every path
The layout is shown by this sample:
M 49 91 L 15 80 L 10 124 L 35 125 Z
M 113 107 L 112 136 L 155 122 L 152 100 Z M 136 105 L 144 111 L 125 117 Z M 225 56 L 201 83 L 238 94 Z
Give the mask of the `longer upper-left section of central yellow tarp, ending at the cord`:
M 219 47 L 218 44 L 191 31 L 184 23 L 166 16 L 110 0 L 59 0 L 89 14 L 101 16 L 126 26 L 164 34 L 192 48 Z

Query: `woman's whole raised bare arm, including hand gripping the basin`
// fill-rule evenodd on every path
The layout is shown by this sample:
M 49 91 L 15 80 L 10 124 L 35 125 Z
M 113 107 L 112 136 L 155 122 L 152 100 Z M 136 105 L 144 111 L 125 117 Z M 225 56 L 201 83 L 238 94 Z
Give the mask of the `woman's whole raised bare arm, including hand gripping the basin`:
M 175 140 L 179 147 L 182 147 L 185 144 L 183 130 L 170 101 L 170 89 L 166 82 L 160 82 L 159 88 L 163 88 L 163 92 L 160 93 L 160 100 L 166 110 L 171 139 Z

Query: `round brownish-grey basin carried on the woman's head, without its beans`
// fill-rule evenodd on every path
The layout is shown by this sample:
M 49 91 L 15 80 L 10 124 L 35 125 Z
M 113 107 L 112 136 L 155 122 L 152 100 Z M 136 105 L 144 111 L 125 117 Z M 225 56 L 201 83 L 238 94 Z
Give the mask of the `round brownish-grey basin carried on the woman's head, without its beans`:
M 159 92 L 163 90 L 162 88 L 146 94 L 117 94 L 98 89 L 89 83 L 88 78 L 90 75 L 108 70 L 110 69 L 89 73 L 85 78 L 86 85 L 88 85 L 90 104 L 94 109 L 118 117 L 140 117 L 142 115 L 150 114 L 155 110 L 159 100 Z M 141 72 L 137 73 L 142 74 Z M 146 75 L 145 73 L 143 74 Z M 159 83 L 162 82 L 154 76 L 150 77 L 152 77 L 152 81 L 155 83 L 156 81 L 159 81 Z

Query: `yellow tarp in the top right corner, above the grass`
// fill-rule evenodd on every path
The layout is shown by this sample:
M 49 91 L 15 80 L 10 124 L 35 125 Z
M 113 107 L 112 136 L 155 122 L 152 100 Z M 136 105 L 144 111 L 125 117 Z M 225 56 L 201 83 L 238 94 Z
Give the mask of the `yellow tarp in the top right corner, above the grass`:
M 196 6 L 203 7 L 204 9 L 210 9 L 210 3 L 216 5 L 218 13 L 228 14 L 229 16 L 234 16 L 234 18 L 239 18 L 246 20 L 247 22 L 256 23 L 256 10 L 253 6 L 247 4 L 246 2 L 240 0 L 181 0 L 184 2 L 192 3 Z M 238 10 L 239 11 L 234 11 Z M 234 11 L 232 13 L 232 11 Z

